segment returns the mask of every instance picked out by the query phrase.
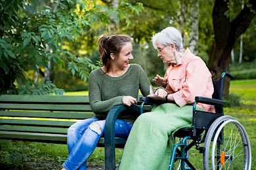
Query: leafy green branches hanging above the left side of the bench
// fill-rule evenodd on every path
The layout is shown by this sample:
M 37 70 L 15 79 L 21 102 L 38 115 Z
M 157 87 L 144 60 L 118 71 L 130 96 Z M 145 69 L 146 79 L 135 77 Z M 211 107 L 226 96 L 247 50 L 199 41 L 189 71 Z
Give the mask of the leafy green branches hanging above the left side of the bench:
M 93 24 L 108 25 L 112 18 L 117 22 L 125 18 L 129 25 L 128 10 L 139 13 L 142 4 L 120 3 L 116 9 L 98 5 L 94 0 L 1 1 L 0 93 L 23 92 L 16 90 L 21 86 L 30 88 L 24 74 L 37 71 L 38 67 L 47 68 L 48 61 L 57 63 L 59 68 L 69 63 L 74 66 L 70 66 L 73 74 L 77 71 L 87 80 L 93 63 L 89 59 L 76 59 L 72 52 L 62 48 L 62 42 L 77 41 Z

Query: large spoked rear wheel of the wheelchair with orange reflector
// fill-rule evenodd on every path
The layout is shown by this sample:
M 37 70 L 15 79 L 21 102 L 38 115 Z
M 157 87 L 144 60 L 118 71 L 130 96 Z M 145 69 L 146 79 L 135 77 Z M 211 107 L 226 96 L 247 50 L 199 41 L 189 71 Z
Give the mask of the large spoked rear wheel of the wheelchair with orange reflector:
M 221 116 L 211 124 L 204 148 L 204 169 L 251 169 L 249 137 L 232 116 Z

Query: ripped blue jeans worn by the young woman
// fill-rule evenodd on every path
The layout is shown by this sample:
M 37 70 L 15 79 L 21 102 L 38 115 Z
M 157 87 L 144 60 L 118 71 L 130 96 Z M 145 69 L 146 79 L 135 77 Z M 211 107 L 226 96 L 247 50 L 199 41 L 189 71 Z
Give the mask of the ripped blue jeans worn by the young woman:
M 97 128 L 96 123 L 100 127 Z M 63 167 L 68 170 L 87 169 L 86 161 L 95 150 L 98 140 L 104 135 L 106 120 L 89 118 L 75 122 L 68 129 L 68 159 Z M 132 125 L 121 119 L 116 120 L 115 136 L 127 138 Z

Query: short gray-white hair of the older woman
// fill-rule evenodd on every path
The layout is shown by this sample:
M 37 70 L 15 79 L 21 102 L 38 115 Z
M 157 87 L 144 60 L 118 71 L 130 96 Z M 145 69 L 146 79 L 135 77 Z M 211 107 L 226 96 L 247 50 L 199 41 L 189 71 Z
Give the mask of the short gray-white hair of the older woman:
M 152 43 L 155 49 L 158 48 L 156 42 L 161 43 L 164 46 L 173 43 L 175 44 L 177 51 L 182 52 L 184 50 L 181 33 L 175 27 L 167 27 L 153 35 Z

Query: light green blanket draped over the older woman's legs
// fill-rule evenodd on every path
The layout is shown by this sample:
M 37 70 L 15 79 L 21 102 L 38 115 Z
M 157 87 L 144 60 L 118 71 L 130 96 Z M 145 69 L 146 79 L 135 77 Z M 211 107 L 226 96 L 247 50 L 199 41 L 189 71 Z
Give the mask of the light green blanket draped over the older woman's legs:
M 119 170 L 168 169 L 173 134 L 192 126 L 192 106 L 167 103 L 137 118 L 125 144 Z

